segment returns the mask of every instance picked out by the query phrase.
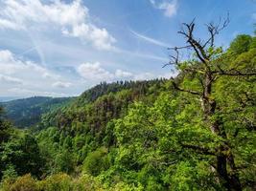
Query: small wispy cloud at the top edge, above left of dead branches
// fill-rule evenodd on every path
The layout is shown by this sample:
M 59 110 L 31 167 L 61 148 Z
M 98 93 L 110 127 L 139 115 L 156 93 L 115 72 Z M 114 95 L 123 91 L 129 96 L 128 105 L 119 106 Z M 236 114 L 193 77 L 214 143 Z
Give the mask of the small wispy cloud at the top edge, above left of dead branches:
M 151 5 L 158 10 L 164 11 L 165 16 L 172 17 L 176 14 L 177 11 L 177 0 L 173 0 L 172 2 L 163 1 L 158 4 L 154 0 L 150 0 Z

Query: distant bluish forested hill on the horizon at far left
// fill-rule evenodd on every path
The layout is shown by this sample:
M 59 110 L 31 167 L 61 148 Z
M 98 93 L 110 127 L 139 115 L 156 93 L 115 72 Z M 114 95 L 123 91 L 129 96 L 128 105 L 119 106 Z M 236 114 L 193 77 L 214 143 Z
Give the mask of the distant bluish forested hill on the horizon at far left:
M 47 97 L 35 96 L 2 102 L 5 116 L 19 128 L 32 127 L 40 121 L 42 114 L 55 110 L 68 102 L 73 97 Z

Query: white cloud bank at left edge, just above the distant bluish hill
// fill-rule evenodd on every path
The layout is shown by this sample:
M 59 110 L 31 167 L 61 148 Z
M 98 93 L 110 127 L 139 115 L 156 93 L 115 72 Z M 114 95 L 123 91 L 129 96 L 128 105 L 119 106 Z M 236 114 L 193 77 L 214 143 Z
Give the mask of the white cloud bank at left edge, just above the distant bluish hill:
M 63 96 L 58 88 L 69 87 L 70 82 L 49 69 L 0 51 L 0 96 Z

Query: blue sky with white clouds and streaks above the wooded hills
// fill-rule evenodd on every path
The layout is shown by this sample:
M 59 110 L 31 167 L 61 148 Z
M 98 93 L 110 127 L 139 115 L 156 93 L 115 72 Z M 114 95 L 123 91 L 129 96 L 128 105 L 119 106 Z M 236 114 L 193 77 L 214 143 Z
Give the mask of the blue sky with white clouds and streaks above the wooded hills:
M 229 12 L 216 39 L 253 34 L 256 0 L 0 0 L 0 96 L 79 96 L 101 81 L 170 77 L 167 48 Z

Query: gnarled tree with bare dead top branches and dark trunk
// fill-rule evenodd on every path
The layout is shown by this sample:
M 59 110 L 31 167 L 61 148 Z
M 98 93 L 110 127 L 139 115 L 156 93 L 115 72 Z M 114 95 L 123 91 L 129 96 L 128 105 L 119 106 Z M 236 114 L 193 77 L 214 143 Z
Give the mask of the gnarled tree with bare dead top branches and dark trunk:
M 195 19 L 191 23 L 183 23 L 181 30 L 178 32 L 181 34 L 186 40 L 186 46 L 170 48 L 169 50 L 173 51 L 174 54 L 170 57 L 170 62 L 163 67 L 168 65 L 175 65 L 175 67 L 179 67 L 180 62 L 180 52 L 182 50 L 189 50 L 192 53 L 196 54 L 196 65 L 188 66 L 183 69 L 183 73 L 187 74 L 198 74 L 198 80 L 201 84 L 201 91 L 189 90 L 181 88 L 175 79 L 173 79 L 174 88 L 177 91 L 191 94 L 193 96 L 198 96 L 201 101 L 201 109 L 204 114 L 204 119 L 207 124 L 209 124 L 209 129 L 214 135 L 221 137 L 226 140 L 227 135 L 222 127 L 222 123 L 220 119 L 212 119 L 213 116 L 217 112 L 217 101 L 212 96 L 212 87 L 213 83 L 221 76 L 221 75 L 231 75 L 231 76 L 252 76 L 256 75 L 256 71 L 250 72 L 241 72 L 234 69 L 224 70 L 221 68 L 220 64 L 216 64 L 214 62 L 216 57 L 214 57 L 213 53 L 209 53 L 209 49 L 215 49 L 215 39 L 216 35 L 218 35 L 224 28 L 229 24 L 229 15 L 222 20 L 220 18 L 217 24 L 209 23 L 206 25 L 207 32 L 209 33 L 209 37 L 202 41 L 201 39 L 197 39 L 194 36 L 195 33 Z M 205 155 L 215 155 L 216 157 L 216 166 L 215 169 L 218 173 L 221 182 L 223 182 L 223 186 L 227 190 L 236 190 L 242 191 L 241 181 L 239 179 L 239 175 L 237 172 L 237 167 L 235 165 L 234 155 L 232 153 L 232 149 L 227 143 L 228 141 L 224 141 L 221 146 L 218 146 L 216 152 L 207 151 L 205 148 L 200 148 L 198 146 L 193 145 L 183 145 L 185 148 L 194 149 L 195 152 L 204 153 Z M 229 169 L 229 170 L 228 170 Z

